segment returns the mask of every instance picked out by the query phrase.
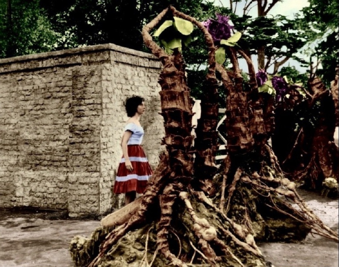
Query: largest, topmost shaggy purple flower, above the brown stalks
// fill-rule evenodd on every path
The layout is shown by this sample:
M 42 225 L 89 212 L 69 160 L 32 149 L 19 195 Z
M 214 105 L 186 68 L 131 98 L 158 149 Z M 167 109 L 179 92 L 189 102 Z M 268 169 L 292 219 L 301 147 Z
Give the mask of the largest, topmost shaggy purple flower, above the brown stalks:
M 234 26 L 229 24 L 230 17 L 217 15 L 217 20 L 208 19 L 203 22 L 203 25 L 207 28 L 208 32 L 212 35 L 214 41 L 220 41 L 221 39 L 227 40 L 231 37 L 231 30 Z

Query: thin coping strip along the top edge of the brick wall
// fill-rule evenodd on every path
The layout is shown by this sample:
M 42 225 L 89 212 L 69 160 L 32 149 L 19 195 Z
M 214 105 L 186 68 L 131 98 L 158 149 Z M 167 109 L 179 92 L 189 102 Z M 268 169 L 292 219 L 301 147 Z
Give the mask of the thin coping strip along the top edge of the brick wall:
M 135 55 L 135 56 L 139 56 L 143 58 L 158 60 L 158 58 L 154 56 L 153 54 L 126 48 L 126 47 L 119 46 L 113 43 L 106 43 L 106 44 L 97 44 L 97 45 L 77 47 L 77 48 L 66 49 L 66 50 L 58 50 L 58 51 L 44 52 L 44 53 L 38 53 L 38 54 L 3 58 L 3 59 L 0 59 L 0 65 L 22 62 L 22 61 L 29 61 L 29 60 L 36 60 L 36 59 L 46 59 L 46 58 L 58 57 L 58 56 L 65 57 L 69 55 L 82 54 L 84 52 L 97 52 L 97 51 L 116 51 L 116 52 L 121 52 L 124 54 Z

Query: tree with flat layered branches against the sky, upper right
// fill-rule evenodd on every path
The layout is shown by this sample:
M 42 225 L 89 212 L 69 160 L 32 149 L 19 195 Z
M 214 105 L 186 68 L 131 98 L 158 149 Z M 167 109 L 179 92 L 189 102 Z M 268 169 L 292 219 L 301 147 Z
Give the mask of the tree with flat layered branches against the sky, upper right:
M 238 30 L 244 34 L 239 45 L 248 55 L 258 56 L 259 69 L 267 71 L 273 66 L 273 74 L 276 74 L 279 67 L 292 58 L 305 43 L 305 32 L 296 27 L 299 21 L 282 15 L 270 16 L 269 13 L 278 0 L 231 0 L 231 9 L 233 2 L 244 2 L 242 17 L 232 16 L 232 21 L 241 25 Z M 257 8 L 257 17 L 252 18 L 248 13 L 254 7 Z

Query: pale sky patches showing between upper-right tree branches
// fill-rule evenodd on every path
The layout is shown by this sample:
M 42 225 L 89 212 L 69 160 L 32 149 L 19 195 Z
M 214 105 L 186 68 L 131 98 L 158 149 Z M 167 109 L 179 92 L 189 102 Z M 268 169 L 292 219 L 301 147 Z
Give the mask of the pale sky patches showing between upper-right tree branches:
M 217 5 L 223 5 L 224 7 L 230 7 L 230 1 L 229 0 L 215 0 L 215 4 Z M 242 0 L 241 2 L 238 3 L 237 6 L 237 15 L 242 15 L 243 13 L 243 7 L 245 5 L 245 0 Z M 250 2 L 250 0 L 248 0 Z M 272 0 L 268 0 L 268 3 L 271 3 Z M 234 9 L 235 3 L 233 3 L 233 9 Z M 254 5 L 254 4 L 252 4 Z M 279 1 L 274 5 L 274 7 L 271 9 L 271 11 L 268 13 L 268 15 L 283 15 L 286 16 L 287 18 L 292 19 L 294 17 L 294 14 L 298 13 L 303 7 L 308 6 L 308 0 L 282 0 Z M 257 16 L 257 7 L 253 7 L 248 13 L 248 15 L 256 17 Z M 258 70 L 258 65 L 257 65 L 257 57 L 252 56 L 253 63 L 255 65 L 256 71 Z M 240 68 L 243 69 L 245 72 L 247 72 L 247 64 L 244 60 L 239 60 L 239 65 Z M 306 68 L 302 68 L 300 66 L 300 63 L 296 60 L 289 59 L 283 66 L 295 66 L 297 70 L 300 72 L 305 72 Z M 272 72 L 273 69 L 268 69 L 268 72 Z

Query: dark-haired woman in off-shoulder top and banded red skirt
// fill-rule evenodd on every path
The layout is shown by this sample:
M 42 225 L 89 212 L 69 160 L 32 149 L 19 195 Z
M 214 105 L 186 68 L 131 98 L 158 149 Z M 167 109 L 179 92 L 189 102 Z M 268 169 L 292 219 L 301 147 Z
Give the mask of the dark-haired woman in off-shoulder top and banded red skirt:
M 134 201 L 136 192 L 144 192 L 147 180 L 153 172 L 140 146 L 144 130 L 139 120 L 145 112 L 144 99 L 140 96 L 127 98 L 125 108 L 130 118 L 127 120 L 121 139 L 123 156 L 114 184 L 114 193 L 125 193 L 125 205 L 127 205 Z

